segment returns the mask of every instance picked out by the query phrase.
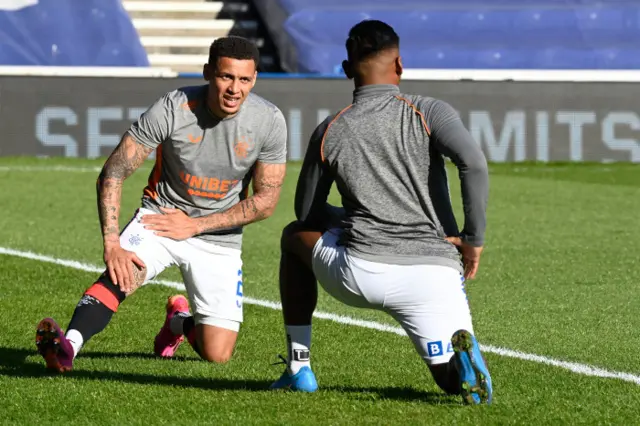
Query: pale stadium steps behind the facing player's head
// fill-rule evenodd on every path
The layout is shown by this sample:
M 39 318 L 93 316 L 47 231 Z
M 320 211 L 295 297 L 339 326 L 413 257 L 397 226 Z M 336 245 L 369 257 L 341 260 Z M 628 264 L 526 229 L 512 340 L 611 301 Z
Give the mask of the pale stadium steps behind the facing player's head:
M 252 39 L 262 53 L 261 70 L 277 63 L 264 54 L 257 13 L 248 1 L 124 0 L 151 66 L 202 71 L 209 46 L 229 34 Z M 253 13 L 252 13 L 253 12 Z M 262 31 L 264 34 L 264 30 Z M 273 47 L 271 47 L 273 51 Z

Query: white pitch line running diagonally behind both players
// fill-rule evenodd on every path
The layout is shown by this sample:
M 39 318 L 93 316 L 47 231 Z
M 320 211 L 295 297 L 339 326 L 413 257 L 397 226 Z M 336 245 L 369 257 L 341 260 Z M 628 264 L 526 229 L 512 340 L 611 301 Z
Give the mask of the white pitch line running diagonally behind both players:
M 73 269 L 86 271 L 86 272 L 101 273 L 104 271 L 104 267 L 90 265 L 88 263 L 78 262 L 76 260 L 58 259 L 55 257 L 33 253 L 30 251 L 14 250 L 7 247 L 0 247 L 0 254 L 21 257 L 24 259 L 37 260 L 40 262 L 54 263 L 56 265 L 66 266 L 68 268 L 73 268 Z M 176 281 L 153 280 L 151 281 L 151 283 L 174 288 L 180 291 L 185 290 L 184 285 Z M 250 305 L 262 306 L 264 308 L 282 310 L 282 305 L 280 305 L 280 303 L 272 302 L 270 300 L 262 300 L 262 299 L 254 299 L 251 297 L 245 297 L 244 302 Z M 406 333 L 400 327 L 393 327 L 391 325 L 381 324 L 374 321 L 360 320 L 357 318 L 332 314 L 329 312 L 315 312 L 313 316 L 316 318 L 326 319 L 326 320 L 337 322 L 340 324 L 368 328 L 372 330 L 393 333 L 400 336 L 406 336 Z M 607 379 L 618 379 L 618 380 L 623 380 L 625 382 L 631 382 L 631 383 L 635 383 L 636 385 L 640 385 L 640 376 L 637 376 L 631 373 L 605 370 L 603 368 L 595 367 L 588 364 L 561 361 L 558 359 L 548 358 L 542 355 L 528 354 L 525 352 L 514 351 L 511 349 L 501 348 L 493 345 L 481 344 L 481 348 L 484 352 L 487 352 L 487 353 L 501 355 L 507 358 L 520 359 L 523 361 L 537 362 L 540 364 L 550 365 L 553 367 L 559 367 L 559 368 L 569 370 L 573 373 L 584 375 L 584 376 L 601 377 L 601 378 L 607 378 Z

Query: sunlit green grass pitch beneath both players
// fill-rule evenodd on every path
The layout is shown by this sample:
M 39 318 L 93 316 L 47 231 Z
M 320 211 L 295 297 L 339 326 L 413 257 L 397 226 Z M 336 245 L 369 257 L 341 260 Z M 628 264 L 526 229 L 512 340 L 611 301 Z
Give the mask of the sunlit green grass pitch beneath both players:
M 0 247 L 100 266 L 91 168 L 101 164 L 0 159 Z M 150 168 L 126 182 L 122 225 Z M 494 404 L 467 407 L 439 391 L 406 337 L 317 319 L 312 366 L 320 391 L 272 392 L 267 388 L 282 372 L 272 363 L 285 349 L 278 310 L 245 305 L 226 365 L 198 360 L 188 345 L 177 359 L 159 360 L 153 337 L 175 290 L 150 285 L 85 346 L 71 374 L 50 375 L 35 352 L 35 325 L 51 315 L 66 327 L 97 274 L 0 254 L 0 423 L 637 424 L 640 385 L 583 367 L 640 376 L 640 166 L 490 169 L 487 247 L 467 289 L 476 334 L 493 347 L 582 364 L 586 374 L 488 353 Z M 289 166 L 275 215 L 246 228 L 251 298 L 278 302 L 278 239 L 293 218 L 298 172 L 299 164 Z M 452 195 L 462 220 L 455 181 Z M 173 269 L 160 278 L 180 280 Z M 322 291 L 318 309 L 395 325 Z

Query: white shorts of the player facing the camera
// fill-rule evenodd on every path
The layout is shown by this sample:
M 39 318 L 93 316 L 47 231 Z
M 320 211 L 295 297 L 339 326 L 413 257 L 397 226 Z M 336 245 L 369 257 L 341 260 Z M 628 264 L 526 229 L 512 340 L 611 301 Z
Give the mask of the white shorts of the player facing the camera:
M 140 208 L 120 235 L 120 244 L 147 267 L 145 284 L 169 266 L 178 266 L 196 324 L 232 331 L 242 323 L 241 251 L 189 238 L 175 241 L 145 229 L 140 220 L 156 214 Z

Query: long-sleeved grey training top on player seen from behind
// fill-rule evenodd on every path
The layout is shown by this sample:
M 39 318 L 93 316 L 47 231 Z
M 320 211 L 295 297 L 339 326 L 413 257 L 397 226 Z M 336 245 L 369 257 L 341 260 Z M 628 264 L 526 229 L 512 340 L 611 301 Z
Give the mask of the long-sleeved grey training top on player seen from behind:
M 458 230 L 444 157 L 458 167 L 464 227 Z M 460 235 L 484 244 L 487 162 L 446 102 L 401 94 L 395 85 L 354 91 L 353 104 L 311 136 L 298 180 L 298 220 L 324 227 L 335 181 L 342 197 L 340 244 L 354 257 L 388 264 L 436 264 L 462 271 Z

